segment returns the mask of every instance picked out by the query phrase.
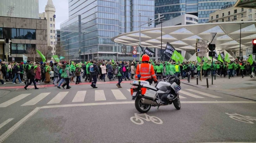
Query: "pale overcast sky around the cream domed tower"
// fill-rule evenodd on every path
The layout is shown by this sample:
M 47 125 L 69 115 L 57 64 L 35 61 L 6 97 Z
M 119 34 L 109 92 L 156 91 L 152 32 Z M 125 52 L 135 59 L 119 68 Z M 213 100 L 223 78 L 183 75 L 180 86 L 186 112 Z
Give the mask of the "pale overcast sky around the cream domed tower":
M 43 13 L 48 0 L 39 0 L 39 13 Z M 55 29 L 60 29 L 60 23 L 68 19 L 68 0 L 53 0 L 56 18 Z

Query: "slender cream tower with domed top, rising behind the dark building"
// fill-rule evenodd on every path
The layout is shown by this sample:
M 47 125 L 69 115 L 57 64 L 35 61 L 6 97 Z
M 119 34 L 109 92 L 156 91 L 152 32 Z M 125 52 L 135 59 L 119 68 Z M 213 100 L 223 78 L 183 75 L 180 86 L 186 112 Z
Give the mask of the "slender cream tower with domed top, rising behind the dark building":
M 39 13 L 39 19 L 47 20 L 48 46 L 51 47 L 51 55 L 55 55 L 55 7 L 52 0 L 47 1 L 45 12 Z

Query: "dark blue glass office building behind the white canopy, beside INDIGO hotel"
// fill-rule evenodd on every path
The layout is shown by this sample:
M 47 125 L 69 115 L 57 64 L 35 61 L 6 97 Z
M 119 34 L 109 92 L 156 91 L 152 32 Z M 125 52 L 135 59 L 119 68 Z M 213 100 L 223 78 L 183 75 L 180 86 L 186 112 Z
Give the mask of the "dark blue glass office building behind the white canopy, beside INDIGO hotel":
M 204 23 L 208 22 L 210 13 L 221 9 L 227 3 L 233 5 L 235 2 L 236 0 L 156 0 L 155 18 L 157 13 L 165 15 L 165 20 L 187 13 L 198 16 L 198 23 Z

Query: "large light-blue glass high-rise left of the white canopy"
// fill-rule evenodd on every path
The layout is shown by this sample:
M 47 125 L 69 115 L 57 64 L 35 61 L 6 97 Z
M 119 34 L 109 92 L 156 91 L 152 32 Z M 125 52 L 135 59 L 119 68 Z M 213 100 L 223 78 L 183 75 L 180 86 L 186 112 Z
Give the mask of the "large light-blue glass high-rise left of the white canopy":
M 69 0 L 69 19 L 60 26 L 61 46 L 69 51 L 66 59 L 133 59 L 132 46 L 122 48 L 111 38 L 139 30 L 139 21 L 146 23 L 148 18 L 154 18 L 154 0 Z

